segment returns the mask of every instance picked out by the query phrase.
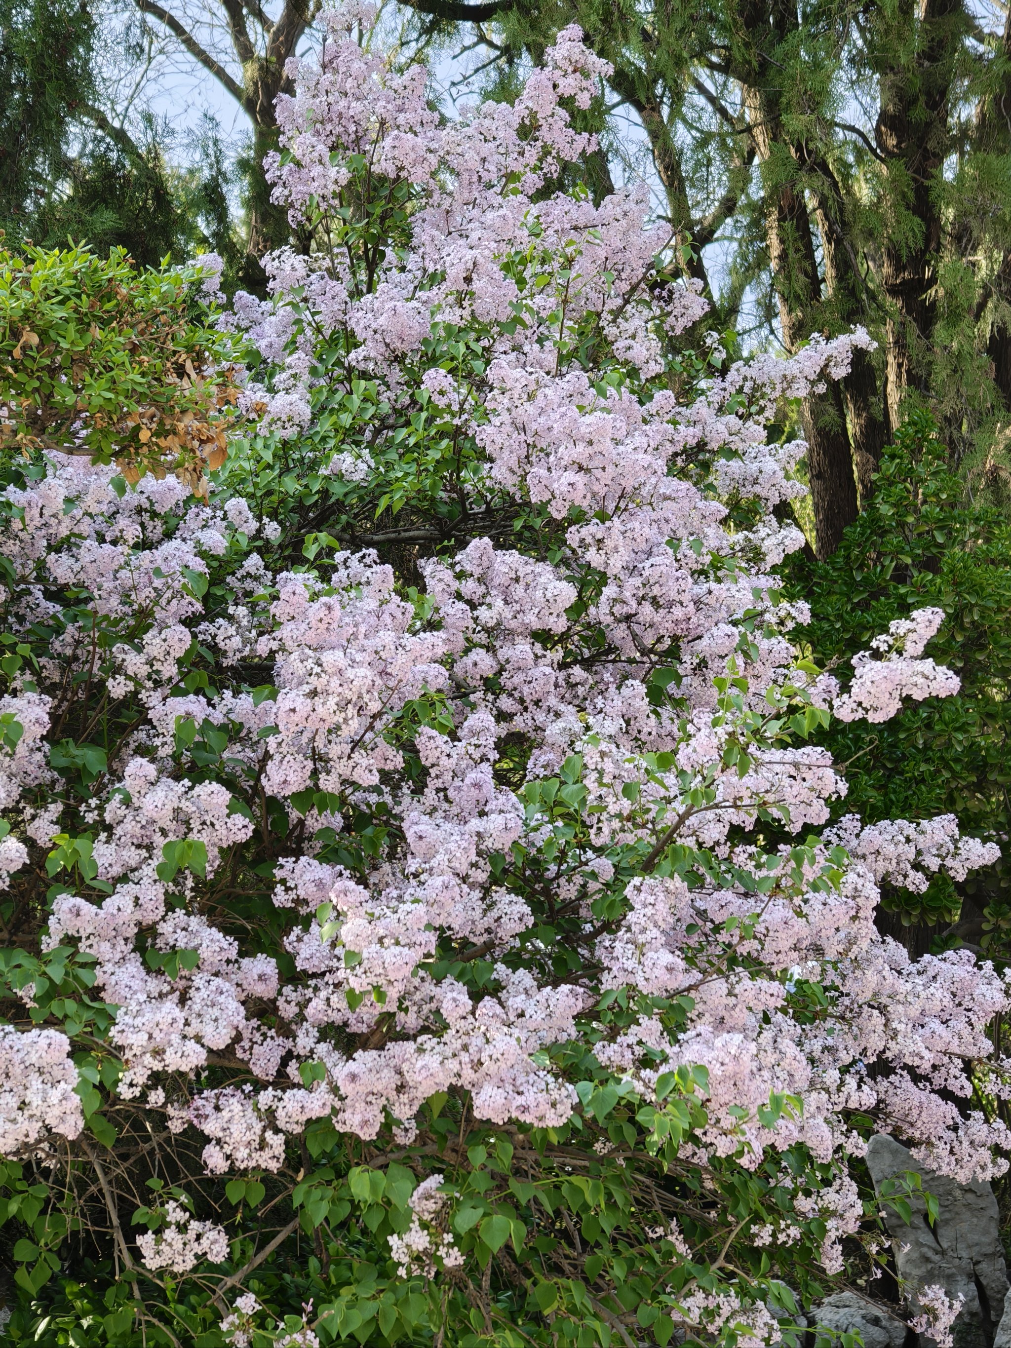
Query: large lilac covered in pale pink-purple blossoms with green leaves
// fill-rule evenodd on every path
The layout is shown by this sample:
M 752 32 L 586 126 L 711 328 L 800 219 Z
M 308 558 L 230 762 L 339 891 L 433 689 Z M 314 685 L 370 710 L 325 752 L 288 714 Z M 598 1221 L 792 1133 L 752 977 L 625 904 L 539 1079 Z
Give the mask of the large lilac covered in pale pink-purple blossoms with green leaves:
M 770 426 L 868 338 L 683 346 L 646 200 L 563 190 L 576 30 L 443 123 L 355 19 L 279 101 L 314 248 L 222 315 L 209 499 L 55 452 L 3 495 L 18 1282 L 105 1252 L 124 1344 L 789 1339 L 884 1258 L 872 1130 L 1011 1143 L 1003 977 L 874 922 L 996 849 L 863 826 L 809 743 L 956 692 L 944 615 L 825 671 L 775 576 Z

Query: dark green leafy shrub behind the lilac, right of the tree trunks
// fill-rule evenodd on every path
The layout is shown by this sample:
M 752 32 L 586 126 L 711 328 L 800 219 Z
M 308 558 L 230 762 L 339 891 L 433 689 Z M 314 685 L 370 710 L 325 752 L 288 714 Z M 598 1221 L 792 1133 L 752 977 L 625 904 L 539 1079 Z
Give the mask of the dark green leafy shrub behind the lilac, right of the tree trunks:
M 826 562 L 798 557 L 786 593 L 803 596 L 798 634 L 820 665 L 842 665 L 875 632 L 923 605 L 944 609 L 937 658 L 961 690 L 906 708 L 883 725 L 853 723 L 824 739 L 838 762 L 860 763 L 845 810 L 867 820 L 952 811 L 1002 841 L 1003 860 L 957 890 L 936 880 L 922 895 L 886 894 L 884 909 L 915 929 L 918 946 L 961 938 L 1006 956 L 1011 914 L 1011 527 L 985 497 L 972 500 L 950 469 L 937 426 L 914 414 L 882 457 L 875 495 Z M 968 900 L 968 902 L 967 902 Z M 965 903 L 965 913 L 962 905 Z M 886 927 L 894 925 L 886 921 Z

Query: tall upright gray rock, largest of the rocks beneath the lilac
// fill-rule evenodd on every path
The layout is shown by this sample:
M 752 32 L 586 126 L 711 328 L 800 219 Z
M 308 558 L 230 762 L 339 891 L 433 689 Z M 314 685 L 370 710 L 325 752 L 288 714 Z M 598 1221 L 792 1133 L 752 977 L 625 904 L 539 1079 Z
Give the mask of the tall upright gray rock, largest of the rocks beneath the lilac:
M 956 1348 L 995 1348 L 995 1333 L 1004 1313 L 1008 1290 L 1004 1250 L 998 1229 L 998 1204 L 988 1184 L 958 1184 L 925 1169 L 894 1138 L 876 1134 L 867 1148 L 867 1167 L 880 1193 L 883 1184 L 903 1170 L 915 1170 L 923 1189 L 934 1194 L 938 1216 L 930 1227 L 926 1204 L 910 1197 L 913 1220 L 907 1224 L 891 1208 L 884 1221 L 892 1237 L 895 1267 L 914 1310 L 917 1290 L 940 1285 L 949 1297 L 964 1297 L 954 1322 Z M 1011 1348 L 1011 1324 L 1008 1324 Z M 933 1348 L 933 1340 L 923 1336 Z

